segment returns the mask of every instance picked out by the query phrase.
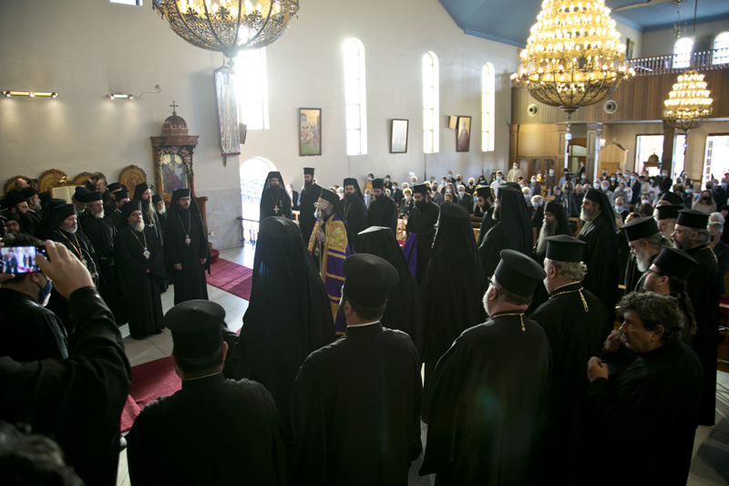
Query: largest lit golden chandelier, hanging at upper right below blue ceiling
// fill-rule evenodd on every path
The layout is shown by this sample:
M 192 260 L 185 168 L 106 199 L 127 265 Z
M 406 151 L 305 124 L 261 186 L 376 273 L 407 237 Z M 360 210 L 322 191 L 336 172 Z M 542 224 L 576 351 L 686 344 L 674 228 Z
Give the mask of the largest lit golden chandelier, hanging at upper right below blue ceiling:
M 545 105 L 560 107 L 568 119 L 580 107 L 607 98 L 623 78 L 635 75 L 625 61 L 610 9 L 604 0 L 564 3 L 544 0 L 521 51 L 514 86 Z

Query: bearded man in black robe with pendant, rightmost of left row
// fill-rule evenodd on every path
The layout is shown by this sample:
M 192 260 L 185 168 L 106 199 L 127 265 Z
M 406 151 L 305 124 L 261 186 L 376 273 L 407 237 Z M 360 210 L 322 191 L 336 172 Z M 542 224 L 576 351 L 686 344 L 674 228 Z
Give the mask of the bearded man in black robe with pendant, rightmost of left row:
M 190 189 L 172 192 L 165 229 L 165 264 L 175 285 L 175 305 L 208 298 L 205 270 L 210 269 L 210 248 L 198 204 Z

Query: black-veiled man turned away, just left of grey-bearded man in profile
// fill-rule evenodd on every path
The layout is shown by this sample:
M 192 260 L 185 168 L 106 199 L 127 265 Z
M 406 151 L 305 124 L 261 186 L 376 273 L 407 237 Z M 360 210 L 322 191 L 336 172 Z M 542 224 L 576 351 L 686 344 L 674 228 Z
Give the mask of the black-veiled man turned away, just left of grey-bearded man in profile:
M 478 247 L 485 277 L 494 274 L 502 250 L 529 254 L 533 245 L 531 219 L 521 192 L 508 186 L 499 188 L 492 218 L 497 223 Z

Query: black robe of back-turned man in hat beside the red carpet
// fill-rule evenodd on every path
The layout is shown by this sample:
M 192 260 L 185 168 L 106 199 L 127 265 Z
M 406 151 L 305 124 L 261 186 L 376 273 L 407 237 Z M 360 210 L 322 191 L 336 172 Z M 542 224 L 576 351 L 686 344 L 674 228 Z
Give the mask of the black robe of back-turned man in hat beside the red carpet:
M 285 484 L 276 406 L 261 384 L 222 373 L 182 381 L 129 430 L 135 485 Z

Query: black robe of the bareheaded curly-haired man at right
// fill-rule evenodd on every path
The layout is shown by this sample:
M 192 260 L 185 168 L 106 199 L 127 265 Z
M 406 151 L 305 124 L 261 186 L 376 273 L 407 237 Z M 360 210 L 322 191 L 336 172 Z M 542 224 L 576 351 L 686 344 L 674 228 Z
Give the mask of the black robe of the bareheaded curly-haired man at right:
M 674 341 L 637 357 L 624 347 L 602 357 L 622 371 L 590 383 L 584 424 L 601 449 L 588 452 L 590 482 L 686 484 L 702 389 L 696 355 Z

